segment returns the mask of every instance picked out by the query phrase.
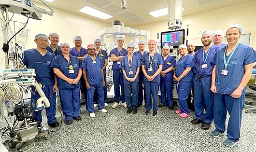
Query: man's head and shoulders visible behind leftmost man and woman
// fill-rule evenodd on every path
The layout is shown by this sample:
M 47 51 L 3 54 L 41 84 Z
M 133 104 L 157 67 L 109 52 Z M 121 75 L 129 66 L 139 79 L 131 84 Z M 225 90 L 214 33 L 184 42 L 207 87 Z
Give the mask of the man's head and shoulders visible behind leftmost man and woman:
M 60 50 L 60 47 L 58 46 L 58 41 L 59 41 L 58 33 L 55 31 L 49 32 L 49 40 L 51 43 L 49 44 L 49 46 L 46 47 L 46 50 L 54 54 L 55 56 L 61 55 L 61 50 Z

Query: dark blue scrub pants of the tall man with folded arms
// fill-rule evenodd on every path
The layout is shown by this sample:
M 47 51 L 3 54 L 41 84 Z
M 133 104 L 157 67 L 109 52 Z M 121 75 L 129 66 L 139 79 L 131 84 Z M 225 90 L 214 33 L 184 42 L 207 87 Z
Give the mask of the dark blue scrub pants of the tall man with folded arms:
M 113 70 L 113 79 L 114 79 L 114 96 L 115 102 L 119 103 L 120 98 L 120 85 L 122 91 L 122 103 L 125 101 L 125 86 L 123 80 L 123 73 L 120 70 Z

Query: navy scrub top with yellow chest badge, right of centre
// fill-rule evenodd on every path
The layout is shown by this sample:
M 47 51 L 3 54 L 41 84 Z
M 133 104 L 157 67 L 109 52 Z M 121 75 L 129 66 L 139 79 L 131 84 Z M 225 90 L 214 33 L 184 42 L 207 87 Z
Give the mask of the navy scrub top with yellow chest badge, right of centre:
M 163 60 L 163 69 L 162 71 L 165 71 L 166 69 L 170 67 L 175 67 L 176 66 L 176 61 L 173 57 L 170 55 L 167 56 L 167 58 L 164 60 L 164 57 L 162 56 Z M 166 73 L 164 77 L 161 77 L 162 82 L 170 82 L 173 80 L 173 70 L 170 72 Z

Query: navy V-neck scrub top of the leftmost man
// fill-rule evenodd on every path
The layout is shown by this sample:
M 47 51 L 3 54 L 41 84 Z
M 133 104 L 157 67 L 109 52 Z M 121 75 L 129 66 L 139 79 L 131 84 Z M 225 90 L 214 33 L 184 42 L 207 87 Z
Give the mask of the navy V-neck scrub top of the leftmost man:
M 35 69 L 36 80 L 43 85 L 54 84 L 53 69 L 50 67 L 54 55 L 46 52 L 42 56 L 36 49 L 25 50 L 22 62 L 27 68 Z

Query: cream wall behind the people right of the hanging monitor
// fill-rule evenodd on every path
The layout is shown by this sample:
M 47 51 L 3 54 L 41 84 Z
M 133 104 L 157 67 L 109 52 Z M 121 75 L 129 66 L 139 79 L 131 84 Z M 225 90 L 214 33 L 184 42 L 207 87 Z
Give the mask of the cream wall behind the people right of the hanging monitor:
M 182 29 L 189 29 L 188 42 L 200 39 L 201 34 L 198 34 L 198 31 L 222 29 L 226 33 L 227 28 L 232 24 L 241 24 L 245 33 L 251 32 L 253 34 L 250 44 L 256 49 L 256 1 L 183 16 L 182 18 Z M 160 33 L 169 30 L 167 28 L 167 21 L 135 28 L 150 30 L 151 39 L 155 40 L 157 39 L 157 33 L 159 33 L 160 39 Z M 200 45 L 202 44 L 200 43 Z

